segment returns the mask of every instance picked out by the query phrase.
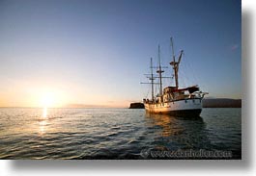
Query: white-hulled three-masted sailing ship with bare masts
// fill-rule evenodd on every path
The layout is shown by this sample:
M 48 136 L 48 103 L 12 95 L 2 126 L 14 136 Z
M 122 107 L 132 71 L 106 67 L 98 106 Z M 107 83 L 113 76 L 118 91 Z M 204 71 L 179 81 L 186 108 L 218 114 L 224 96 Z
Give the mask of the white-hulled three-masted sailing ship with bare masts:
M 153 62 L 151 58 L 151 74 L 148 77 L 151 81 L 150 83 L 142 84 L 151 84 L 152 98 L 143 99 L 145 110 L 147 113 L 168 113 L 171 115 L 196 115 L 199 116 L 202 112 L 202 99 L 205 94 L 208 92 L 200 91 L 197 85 L 180 88 L 179 87 L 179 66 L 184 55 L 184 50 L 181 51 L 178 60 L 174 54 L 173 39 L 170 39 L 172 47 L 172 58 L 173 61 L 170 63 L 174 70 L 174 79 L 175 86 L 170 86 L 162 88 L 162 79 L 170 78 L 163 77 L 162 73 L 164 72 L 163 66 L 160 63 L 160 47 L 158 46 L 158 66 L 156 67 L 157 76 L 153 73 Z M 171 77 L 171 78 L 173 78 Z M 155 80 L 158 79 L 158 83 Z M 159 92 L 154 94 L 155 85 L 159 86 Z

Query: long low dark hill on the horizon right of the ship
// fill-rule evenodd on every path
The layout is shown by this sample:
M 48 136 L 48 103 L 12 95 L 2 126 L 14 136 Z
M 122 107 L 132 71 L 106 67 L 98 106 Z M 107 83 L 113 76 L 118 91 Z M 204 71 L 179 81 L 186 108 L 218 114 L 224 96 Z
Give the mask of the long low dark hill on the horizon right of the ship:
M 242 108 L 242 99 L 228 98 L 205 98 L 203 99 L 204 108 Z

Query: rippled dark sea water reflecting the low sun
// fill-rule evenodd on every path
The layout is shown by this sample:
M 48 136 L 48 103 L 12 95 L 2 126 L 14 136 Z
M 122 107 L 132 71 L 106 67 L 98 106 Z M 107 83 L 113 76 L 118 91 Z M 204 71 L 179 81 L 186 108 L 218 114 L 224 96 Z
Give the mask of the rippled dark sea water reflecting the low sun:
M 241 150 L 242 109 L 204 109 L 200 117 L 129 109 L 0 109 L 0 159 L 226 160 L 241 159 Z

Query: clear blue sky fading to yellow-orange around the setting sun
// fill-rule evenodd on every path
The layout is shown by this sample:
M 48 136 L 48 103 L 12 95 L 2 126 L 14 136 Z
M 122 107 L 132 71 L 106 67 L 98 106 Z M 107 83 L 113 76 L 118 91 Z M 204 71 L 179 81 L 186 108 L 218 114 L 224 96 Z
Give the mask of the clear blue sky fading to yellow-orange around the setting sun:
M 242 98 L 241 26 L 240 0 L 0 0 L 0 107 L 128 107 L 170 37 L 181 87 Z

